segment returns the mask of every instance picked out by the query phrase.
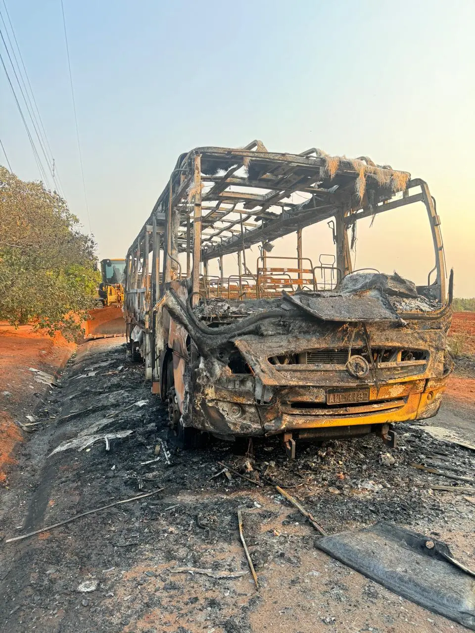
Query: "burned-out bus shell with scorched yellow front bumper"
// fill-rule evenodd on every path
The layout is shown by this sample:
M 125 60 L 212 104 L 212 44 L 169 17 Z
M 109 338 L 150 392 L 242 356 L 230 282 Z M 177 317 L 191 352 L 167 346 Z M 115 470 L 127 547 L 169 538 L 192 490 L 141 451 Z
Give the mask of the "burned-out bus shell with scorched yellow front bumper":
M 433 244 L 427 283 L 353 270 L 357 223 L 415 203 Z M 304 256 L 302 231 L 319 223 L 334 252 Z M 295 240 L 288 257 L 270 254 L 279 238 Z M 452 287 L 424 180 L 254 141 L 179 157 L 127 253 L 124 311 L 132 356 L 183 446 L 281 436 L 293 456 L 301 439 L 369 432 L 391 446 L 395 423 L 437 413 Z

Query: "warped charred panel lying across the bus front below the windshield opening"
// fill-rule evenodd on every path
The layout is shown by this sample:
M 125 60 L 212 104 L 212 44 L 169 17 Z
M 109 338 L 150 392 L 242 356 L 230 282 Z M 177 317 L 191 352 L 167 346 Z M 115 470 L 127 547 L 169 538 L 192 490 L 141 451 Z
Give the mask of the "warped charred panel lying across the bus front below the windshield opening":
M 302 292 L 293 296 L 282 291 L 284 299 L 308 315 L 322 321 L 343 323 L 395 321 L 401 317 L 384 294 L 372 289 L 354 294 Z

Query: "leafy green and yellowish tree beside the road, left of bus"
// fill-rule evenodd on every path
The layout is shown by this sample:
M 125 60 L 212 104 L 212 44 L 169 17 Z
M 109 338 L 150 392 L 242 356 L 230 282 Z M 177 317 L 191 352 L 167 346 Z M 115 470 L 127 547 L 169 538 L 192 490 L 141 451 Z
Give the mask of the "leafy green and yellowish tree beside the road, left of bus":
M 100 280 L 95 248 L 61 196 L 0 166 L 0 319 L 78 335 Z

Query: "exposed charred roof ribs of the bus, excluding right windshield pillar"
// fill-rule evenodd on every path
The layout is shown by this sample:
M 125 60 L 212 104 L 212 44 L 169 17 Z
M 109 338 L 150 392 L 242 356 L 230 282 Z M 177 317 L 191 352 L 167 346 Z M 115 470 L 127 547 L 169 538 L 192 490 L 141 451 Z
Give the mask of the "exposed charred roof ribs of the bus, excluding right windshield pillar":
M 193 235 L 193 158 L 201 156 L 201 246 L 204 260 L 289 234 L 326 220 L 337 210 L 365 209 L 389 201 L 410 178 L 368 158 L 328 156 L 314 147 L 301 154 L 271 153 L 260 141 L 243 149 L 197 147 L 182 154 L 172 177 L 129 252 L 143 241 L 153 215 L 178 213 L 179 234 L 191 223 Z M 297 196 L 296 200 L 294 196 Z M 163 215 L 160 221 L 163 225 Z M 242 223 L 242 229 L 241 229 Z M 186 241 L 179 239 L 179 249 Z

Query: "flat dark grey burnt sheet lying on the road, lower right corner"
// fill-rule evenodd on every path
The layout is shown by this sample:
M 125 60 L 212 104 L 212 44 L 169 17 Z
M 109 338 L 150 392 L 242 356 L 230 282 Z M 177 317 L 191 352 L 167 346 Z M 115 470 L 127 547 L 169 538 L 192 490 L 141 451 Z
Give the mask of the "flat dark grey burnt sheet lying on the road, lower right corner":
M 403 598 L 475 630 L 475 578 L 445 543 L 381 522 L 316 545 Z

